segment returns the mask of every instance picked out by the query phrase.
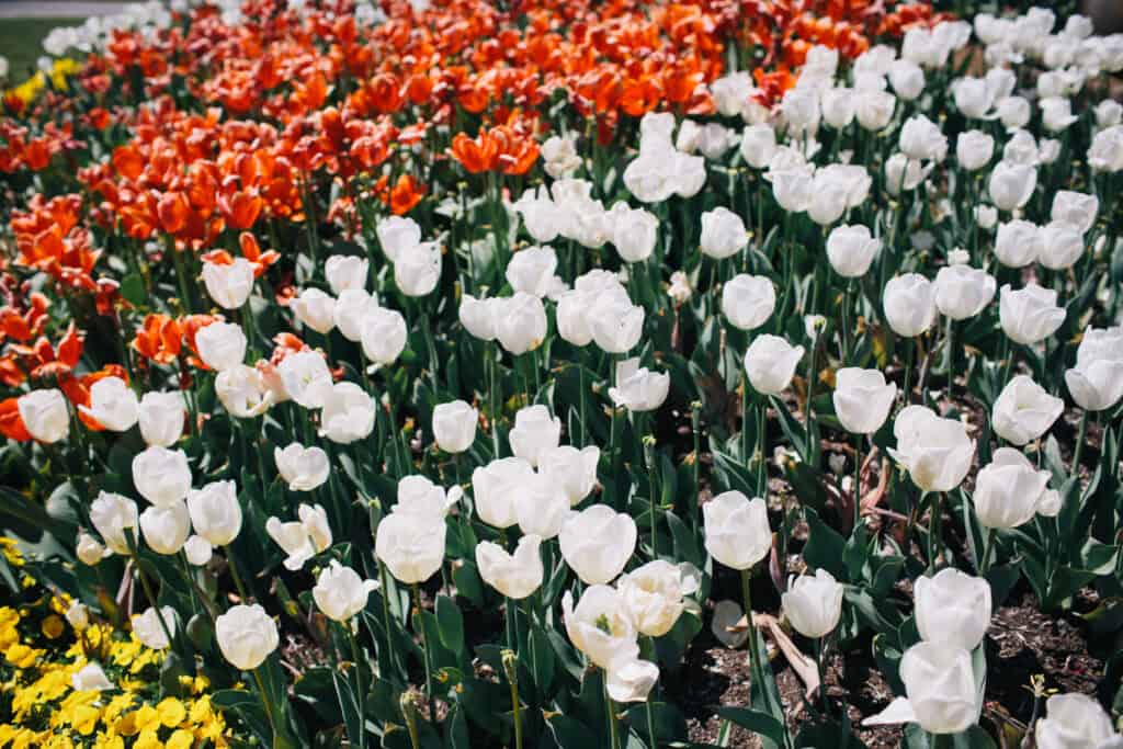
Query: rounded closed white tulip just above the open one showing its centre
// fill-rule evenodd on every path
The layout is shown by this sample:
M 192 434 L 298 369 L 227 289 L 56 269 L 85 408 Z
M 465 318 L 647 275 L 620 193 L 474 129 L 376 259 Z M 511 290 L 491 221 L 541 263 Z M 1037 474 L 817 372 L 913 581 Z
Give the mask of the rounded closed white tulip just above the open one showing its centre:
M 631 515 L 604 504 L 575 513 L 558 535 L 562 556 L 585 585 L 611 583 L 636 550 Z

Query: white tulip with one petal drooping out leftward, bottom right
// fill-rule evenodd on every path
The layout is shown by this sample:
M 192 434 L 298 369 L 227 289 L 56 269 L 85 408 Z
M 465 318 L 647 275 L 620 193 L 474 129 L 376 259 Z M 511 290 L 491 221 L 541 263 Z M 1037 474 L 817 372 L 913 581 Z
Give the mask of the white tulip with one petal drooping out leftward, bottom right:
M 909 696 L 896 697 L 862 725 L 917 723 L 929 733 L 959 733 L 978 722 L 983 705 L 966 650 L 917 642 L 905 650 L 900 674 Z

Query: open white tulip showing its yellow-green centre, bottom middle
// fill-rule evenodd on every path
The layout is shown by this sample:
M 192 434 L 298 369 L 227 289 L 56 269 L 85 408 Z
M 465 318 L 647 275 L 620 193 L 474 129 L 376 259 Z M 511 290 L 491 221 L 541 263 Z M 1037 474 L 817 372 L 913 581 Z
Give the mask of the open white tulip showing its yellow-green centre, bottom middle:
M 563 620 L 569 640 L 594 665 L 609 668 L 617 658 L 639 656 L 636 623 L 628 615 L 623 594 L 608 585 L 591 585 L 573 605 L 569 591 L 562 596 Z

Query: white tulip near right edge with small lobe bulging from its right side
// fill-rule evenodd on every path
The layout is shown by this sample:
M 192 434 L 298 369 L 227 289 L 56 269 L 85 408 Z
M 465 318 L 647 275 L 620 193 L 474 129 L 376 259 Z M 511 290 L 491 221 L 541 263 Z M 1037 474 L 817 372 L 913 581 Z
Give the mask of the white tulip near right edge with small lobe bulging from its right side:
M 975 514 L 985 528 L 1017 528 L 1034 515 L 1060 512 L 1060 494 L 1049 488 L 1048 471 L 1038 471 L 1012 447 L 999 447 L 975 477 Z

